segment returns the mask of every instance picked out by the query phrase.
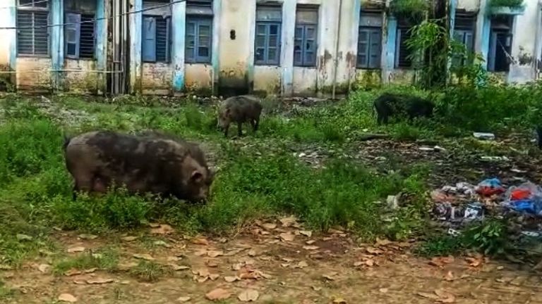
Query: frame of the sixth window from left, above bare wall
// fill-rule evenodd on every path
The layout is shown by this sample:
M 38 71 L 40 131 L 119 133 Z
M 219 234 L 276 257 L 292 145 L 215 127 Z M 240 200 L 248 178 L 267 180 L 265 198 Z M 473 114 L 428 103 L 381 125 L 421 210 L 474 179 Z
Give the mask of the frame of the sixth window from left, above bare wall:
M 320 7 L 319 6 L 309 6 L 309 7 L 307 7 L 307 6 L 297 6 L 296 7 L 296 15 L 300 11 L 301 12 L 303 12 L 303 11 L 315 12 L 316 13 L 316 20 L 313 21 L 313 22 L 309 22 L 309 21 L 299 22 L 298 20 L 296 20 L 296 27 L 294 29 L 294 66 L 295 67 L 301 67 L 301 68 L 316 68 L 316 57 L 318 56 L 318 29 L 319 29 L 318 23 L 320 21 Z M 308 39 L 307 32 L 311 28 L 314 31 L 314 38 L 313 39 Z M 298 29 L 301 29 L 301 33 L 302 33 L 301 34 L 301 39 L 299 37 L 296 37 L 296 33 L 297 33 Z M 301 53 L 301 61 L 296 61 L 296 49 L 295 48 L 296 48 L 296 42 L 298 42 L 299 40 L 301 40 L 301 51 L 299 51 Z M 310 50 L 313 53 L 312 61 L 307 60 L 306 53 L 308 53 L 309 51 L 306 48 L 303 47 L 303 46 L 306 46 L 309 41 L 313 42 L 313 47 Z

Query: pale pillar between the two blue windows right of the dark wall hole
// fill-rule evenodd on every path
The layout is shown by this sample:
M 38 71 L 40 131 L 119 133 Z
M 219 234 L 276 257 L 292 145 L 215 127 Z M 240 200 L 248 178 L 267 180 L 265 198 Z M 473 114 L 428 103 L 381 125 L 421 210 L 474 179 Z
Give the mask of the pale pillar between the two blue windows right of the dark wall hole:
M 282 3 L 282 48 L 280 65 L 282 67 L 281 95 L 294 94 L 294 34 L 296 30 L 296 0 Z

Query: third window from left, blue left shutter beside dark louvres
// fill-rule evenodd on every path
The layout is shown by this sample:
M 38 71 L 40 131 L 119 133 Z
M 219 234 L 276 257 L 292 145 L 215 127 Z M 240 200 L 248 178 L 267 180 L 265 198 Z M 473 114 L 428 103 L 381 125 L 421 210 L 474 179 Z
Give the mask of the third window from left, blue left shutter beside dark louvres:
M 169 22 L 169 17 L 143 15 L 143 61 L 169 62 Z

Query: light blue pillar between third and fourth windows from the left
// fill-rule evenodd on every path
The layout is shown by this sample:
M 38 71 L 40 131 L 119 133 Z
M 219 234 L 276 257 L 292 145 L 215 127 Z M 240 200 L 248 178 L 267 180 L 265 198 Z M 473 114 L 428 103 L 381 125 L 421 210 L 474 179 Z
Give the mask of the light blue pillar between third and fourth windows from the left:
M 173 67 L 173 91 L 184 89 L 184 36 L 186 34 L 186 1 L 171 5 L 171 66 Z M 212 56 L 215 54 L 213 53 Z

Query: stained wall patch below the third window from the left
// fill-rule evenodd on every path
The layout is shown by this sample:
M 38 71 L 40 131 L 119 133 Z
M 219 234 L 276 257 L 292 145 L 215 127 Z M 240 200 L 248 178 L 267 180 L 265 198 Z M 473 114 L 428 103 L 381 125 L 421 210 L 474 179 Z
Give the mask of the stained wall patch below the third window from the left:
M 143 94 L 168 95 L 171 93 L 173 71 L 169 63 L 143 63 L 142 70 Z

